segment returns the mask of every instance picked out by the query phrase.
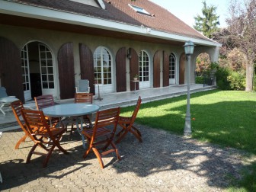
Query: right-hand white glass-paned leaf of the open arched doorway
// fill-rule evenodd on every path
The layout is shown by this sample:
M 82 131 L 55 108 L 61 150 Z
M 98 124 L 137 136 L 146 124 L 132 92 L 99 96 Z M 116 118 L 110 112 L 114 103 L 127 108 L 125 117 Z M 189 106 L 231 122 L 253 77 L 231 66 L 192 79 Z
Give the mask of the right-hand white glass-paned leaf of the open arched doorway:
M 42 43 L 38 44 L 42 94 L 53 94 L 56 97 L 54 85 L 53 55 Z

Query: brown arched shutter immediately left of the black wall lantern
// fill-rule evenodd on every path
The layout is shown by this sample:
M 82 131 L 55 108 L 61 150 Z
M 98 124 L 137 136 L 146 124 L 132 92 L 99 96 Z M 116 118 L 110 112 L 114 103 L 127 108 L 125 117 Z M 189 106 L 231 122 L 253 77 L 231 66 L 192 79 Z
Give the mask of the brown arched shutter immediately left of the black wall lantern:
M 126 48 L 117 51 L 116 56 L 117 92 L 126 91 Z

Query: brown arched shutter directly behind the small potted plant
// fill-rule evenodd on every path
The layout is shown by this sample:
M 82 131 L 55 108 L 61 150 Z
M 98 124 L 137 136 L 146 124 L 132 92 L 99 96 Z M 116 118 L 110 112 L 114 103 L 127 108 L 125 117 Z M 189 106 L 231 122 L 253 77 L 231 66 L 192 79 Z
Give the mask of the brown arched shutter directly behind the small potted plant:
M 134 90 L 134 82 L 133 77 L 134 75 L 138 74 L 139 75 L 139 56 L 136 53 L 136 50 L 133 48 L 130 48 L 130 54 L 131 54 L 131 59 L 130 59 L 130 90 Z M 136 90 L 139 90 L 139 82 L 136 82 Z

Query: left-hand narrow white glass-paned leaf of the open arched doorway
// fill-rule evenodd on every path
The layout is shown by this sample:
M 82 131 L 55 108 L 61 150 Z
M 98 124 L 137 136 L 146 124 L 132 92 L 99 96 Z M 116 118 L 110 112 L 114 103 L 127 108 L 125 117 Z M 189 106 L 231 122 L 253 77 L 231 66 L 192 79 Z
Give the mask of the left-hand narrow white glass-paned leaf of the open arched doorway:
M 30 69 L 29 69 L 29 58 L 28 49 L 25 45 L 21 50 L 21 70 L 22 70 L 22 81 L 24 89 L 25 101 L 31 100 L 31 89 L 30 89 Z

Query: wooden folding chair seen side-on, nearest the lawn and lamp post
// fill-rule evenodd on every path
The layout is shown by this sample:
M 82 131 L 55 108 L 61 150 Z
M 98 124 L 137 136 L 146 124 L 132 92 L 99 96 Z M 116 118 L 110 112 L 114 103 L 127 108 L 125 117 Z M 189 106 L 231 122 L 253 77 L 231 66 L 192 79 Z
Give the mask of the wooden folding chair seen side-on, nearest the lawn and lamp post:
M 133 135 L 136 136 L 139 142 L 142 142 L 141 133 L 135 126 L 133 126 L 133 123 L 135 122 L 137 114 L 139 112 L 139 107 L 141 102 L 142 102 L 142 99 L 139 96 L 136 107 L 133 111 L 133 115 L 131 117 L 122 117 L 122 116 L 119 117 L 118 125 L 122 127 L 122 130 L 120 130 L 120 132 L 117 133 L 118 139 L 116 140 L 116 143 L 120 142 L 128 132 L 133 133 Z

